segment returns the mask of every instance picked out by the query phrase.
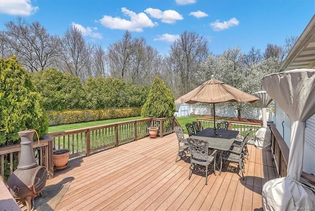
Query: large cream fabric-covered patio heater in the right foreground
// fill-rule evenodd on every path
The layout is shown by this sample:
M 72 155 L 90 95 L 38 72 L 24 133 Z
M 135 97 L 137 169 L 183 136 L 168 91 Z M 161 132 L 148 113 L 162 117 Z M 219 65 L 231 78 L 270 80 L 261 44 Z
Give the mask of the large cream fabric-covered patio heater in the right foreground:
M 263 185 L 263 210 L 291 210 L 312 206 L 314 208 L 315 195 L 300 183 L 300 176 L 303 166 L 305 122 L 315 114 L 315 70 L 273 73 L 262 78 L 262 85 L 291 122 L 287 176 L 272 179 Z

